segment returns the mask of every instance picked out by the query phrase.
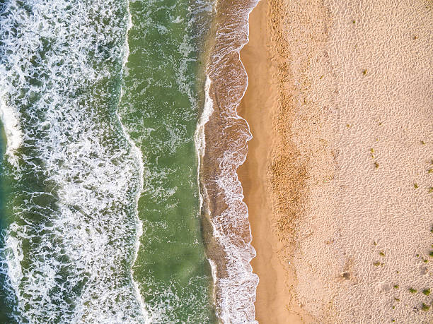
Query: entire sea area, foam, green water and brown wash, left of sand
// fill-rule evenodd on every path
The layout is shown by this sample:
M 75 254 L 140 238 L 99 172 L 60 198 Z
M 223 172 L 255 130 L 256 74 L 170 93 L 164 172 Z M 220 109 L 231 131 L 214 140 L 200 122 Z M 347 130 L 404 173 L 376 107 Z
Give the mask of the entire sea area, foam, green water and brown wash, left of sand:
M 0 1 L 0 323 L 254 321 L 254 5 Z

